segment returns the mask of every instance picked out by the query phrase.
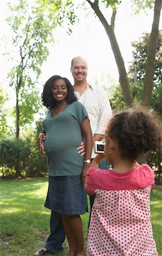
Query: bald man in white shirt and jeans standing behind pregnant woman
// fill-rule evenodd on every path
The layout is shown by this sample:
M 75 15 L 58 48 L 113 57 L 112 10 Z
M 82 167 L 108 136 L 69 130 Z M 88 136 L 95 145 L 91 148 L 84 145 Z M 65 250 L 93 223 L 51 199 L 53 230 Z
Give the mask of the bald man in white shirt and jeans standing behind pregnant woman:
M 74 78 L 74 92 L 78 101 L 80 101 L 88 112 L 90 120 L 93 142 L 101 141 L 104 134 L 105 122 L 112 116 L 112 109 L 108 96 L 103 88 L 100 86 L 89 85 L 87 82 L 88 65 L 86 59 L 77 56 L 71 61 L 70 71 Z M 39 146 L 42 152 L 44 152 L 43 141 L 45 135 L 39 136 Z M 84 154 L 84 144 L 77 148 L 78 154 Z M 44 152 L 45 154 L 45 152 Z M 95 157 L 92 150 L 91 160 Z M 100 168 L 107 168 L 106 159 L 100 164 Z M 90 197 L 91 208 L 95 197 Z M 50 218 L 50 230 L 51 234 L 45 243 L 45 246 L 37 251 L 36 255 L 44 255 L 49 251 L 54 253 L 55 251 L 63 250 L 62 243 L 65 240 L 65 232 L 63 229 L 61 215 L 52 211 Z

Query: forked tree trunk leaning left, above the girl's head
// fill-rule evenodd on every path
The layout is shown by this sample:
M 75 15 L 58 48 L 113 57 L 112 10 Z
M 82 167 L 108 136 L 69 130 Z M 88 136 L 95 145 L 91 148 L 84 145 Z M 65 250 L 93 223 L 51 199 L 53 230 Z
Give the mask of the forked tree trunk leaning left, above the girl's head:
M 95 11 L 95 14 L 100 19 L 100 22 L 103 24 L 106 34 L 109 37 L 112 51 L 113 51 L 113 54 L 114 54 L 114 57 L 116 60 L 119 76 L 120 76 L 119 82 L 120 82 L 121 89 L 122 89 L 123 99 L 127 106 L 131 106 L 131 105 L 133 105 L 133 97 L 131 96 L 131 91 L 130 91 L 129 81 L 127 79 L 125 64 L 124 64 L 124 61 L 123 61 L 123 58 L 121 55 L 120 48 L 117 43 L 116 36 L 114 34 L 115 14 L 113 13 L 114 16 L 112 15 L 112 19 L 111 19 L 113 21 L 113 23 L 111 25 L 109 25 L 108 22 L 106 21 L 104 15 L 101 13 L 101 11 L 99 9 L 99 1 L 95 0 L 95 2 L 92 3 L 91 1 L 87 0 L 87 2 L 89 3 L 89 5 L 91 5 L 92 9 Z

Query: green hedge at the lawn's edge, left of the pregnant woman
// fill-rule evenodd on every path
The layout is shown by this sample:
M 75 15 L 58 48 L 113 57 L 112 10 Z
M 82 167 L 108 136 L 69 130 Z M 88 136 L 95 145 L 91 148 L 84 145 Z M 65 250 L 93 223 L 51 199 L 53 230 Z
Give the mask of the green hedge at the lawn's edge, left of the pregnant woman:
M 15 178 L 47 175 L 46 156 L 42 154 L 37 143 L 41 131 L 41 121 L 37 121 L 36 130 L 25 130 L 23 138 L 1 139 L 0 176 Z

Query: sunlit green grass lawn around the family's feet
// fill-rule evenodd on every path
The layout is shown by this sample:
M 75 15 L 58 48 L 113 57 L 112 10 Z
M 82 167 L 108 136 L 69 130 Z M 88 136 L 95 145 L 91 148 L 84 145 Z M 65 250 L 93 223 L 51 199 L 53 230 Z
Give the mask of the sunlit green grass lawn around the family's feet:
M 42 247 L 49 235 L 50 210 L 44 207 L 48 179 L 0 181 L 0 255 L 30 256 Z M 162 187 L 151 193 L 151 221 L 159 256 L 162 256 Z M 82 216 L 85 243 L 88 213 Z M 68 251 L 64 243 L 65 255 Z M 115 256 L 115 255 L 114 255 Z

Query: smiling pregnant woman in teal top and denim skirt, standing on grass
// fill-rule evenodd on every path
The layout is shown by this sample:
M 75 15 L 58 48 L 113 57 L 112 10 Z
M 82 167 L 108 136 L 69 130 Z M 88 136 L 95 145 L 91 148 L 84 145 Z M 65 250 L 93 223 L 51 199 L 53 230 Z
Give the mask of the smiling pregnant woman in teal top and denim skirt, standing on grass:
M 63 249 L 66 232 L 70 247 L 68 255 L 86 255 L 80 214 L 87 210 L 83 184 L 89 163 L 84 161 L 76 148 L 83 141 L 84 135 L 86 160 L 91 159 L 92 132 L 88 114 L 86 108 L 76 101 L 73 86 L 65 77 L 52 76 L 46 81 L 42 102 L 49 109 L 42 121 L 46 134 L 44 148 L 49 175 L 45 207 L 52 210 L 52 218 L 57 214 L 60 216 L 59 221 L 62 218 L 63 222 L 62 227 L 59 224 L 62 240 L 56 241 L 51 252 Z M 36 255 L 44 254 L 44 251 L 48 253 L 50 250 L 43 247 L 36 251 Z

